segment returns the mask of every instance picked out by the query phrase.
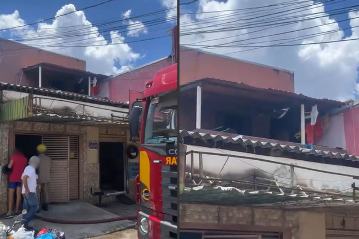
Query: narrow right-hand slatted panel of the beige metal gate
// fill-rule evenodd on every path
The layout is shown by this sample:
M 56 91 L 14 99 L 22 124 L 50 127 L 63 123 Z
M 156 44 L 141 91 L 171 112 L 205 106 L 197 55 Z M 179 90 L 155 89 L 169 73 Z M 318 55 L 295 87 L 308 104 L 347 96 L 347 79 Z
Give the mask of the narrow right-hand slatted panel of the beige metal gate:
M 79 199 L 79 137 L 70 136 L 70 200 Z

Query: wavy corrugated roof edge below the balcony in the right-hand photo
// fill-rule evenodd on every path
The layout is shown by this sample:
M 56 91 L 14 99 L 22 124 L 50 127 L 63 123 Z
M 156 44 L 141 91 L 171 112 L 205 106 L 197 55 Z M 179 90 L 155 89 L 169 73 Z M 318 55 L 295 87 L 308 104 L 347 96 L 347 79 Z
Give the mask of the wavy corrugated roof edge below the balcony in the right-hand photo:
M 205 141 L 213 140 L 214 142 L 240 144 L 243 146 L 277 149 L 277 150 L 291 152 L 291 153 L 298 153 L 298 154 L 303 153 L 303 154 L 308 154 L 308 155 L 313 155 L 313 156 L 359 161 L 359 157 L 357 157 L 353 154 L 330 152 L 330 151 L 325 151 L 325 150 L 306 149 L 306 148 L 297 147 L 297 146 L 289 146 L 286 144 L 269 143 L 269 142 L 260 141 L 260 140 L 243 139 L 242 135 L 238 135 L 237 137 L 229 137 L 229 136 L 221 136 L 221 135 L 215 135 L 215 134 L 180 130 L 180 137 L 181 138 L 191 137 L 192 139 L 201 139 L 201 140 L 205 140 Z

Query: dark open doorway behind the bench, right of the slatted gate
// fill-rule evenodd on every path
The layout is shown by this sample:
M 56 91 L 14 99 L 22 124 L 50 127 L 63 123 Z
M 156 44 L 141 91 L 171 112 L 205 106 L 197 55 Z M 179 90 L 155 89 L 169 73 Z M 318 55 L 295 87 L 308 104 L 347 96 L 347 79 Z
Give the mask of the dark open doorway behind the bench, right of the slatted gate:
M 101 191 L 125 191 L 123 143 L 100 142 Z

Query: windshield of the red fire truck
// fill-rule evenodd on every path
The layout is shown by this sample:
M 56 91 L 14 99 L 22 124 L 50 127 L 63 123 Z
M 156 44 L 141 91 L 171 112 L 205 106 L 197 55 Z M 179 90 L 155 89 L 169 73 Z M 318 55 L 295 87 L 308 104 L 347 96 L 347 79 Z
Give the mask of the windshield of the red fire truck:
M 146 114 L 144 143 L 177 143 L 176 91 L 158 95 L 151 100 Z

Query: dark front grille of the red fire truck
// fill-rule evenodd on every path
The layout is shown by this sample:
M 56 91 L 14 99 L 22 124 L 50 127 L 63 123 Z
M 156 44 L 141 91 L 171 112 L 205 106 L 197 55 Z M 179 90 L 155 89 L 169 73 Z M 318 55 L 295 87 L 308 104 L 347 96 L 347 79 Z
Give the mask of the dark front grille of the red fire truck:
M 162 205 L 164 220 L 177 225 L 177 165 L 162 166 Z M 167 238 L 177 238 L 177 230 L 169 231 Z

